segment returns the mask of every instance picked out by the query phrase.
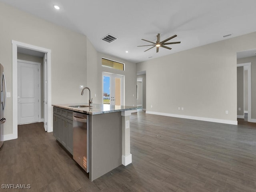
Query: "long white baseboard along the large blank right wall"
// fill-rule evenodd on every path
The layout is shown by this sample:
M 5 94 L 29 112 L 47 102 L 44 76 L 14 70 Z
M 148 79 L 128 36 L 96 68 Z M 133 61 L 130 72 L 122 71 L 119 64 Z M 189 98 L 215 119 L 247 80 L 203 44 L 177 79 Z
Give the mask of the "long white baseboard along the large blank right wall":
M 147 114 L 154 114 L 154 115 L 169 116 L 169 117 L 178 117 L 178 118 L 184 118 L 184 119 L 193 119 L 193 120 L 199 120 L 199 121 L 208 121 L 208 122 L 215 122 L 215 123 L 225 123 L 225 124 L 237 125 L 237 121 L 232 121 L 232 120 L 214 119 L 214 118 L 206 118 L 206 117 L 187 116 L 187 115 L 178 115 L 178 114 L 161 113 L 161 112 L 153 112 L 153 111 L 146 111 L 146 113 Z

